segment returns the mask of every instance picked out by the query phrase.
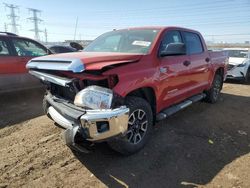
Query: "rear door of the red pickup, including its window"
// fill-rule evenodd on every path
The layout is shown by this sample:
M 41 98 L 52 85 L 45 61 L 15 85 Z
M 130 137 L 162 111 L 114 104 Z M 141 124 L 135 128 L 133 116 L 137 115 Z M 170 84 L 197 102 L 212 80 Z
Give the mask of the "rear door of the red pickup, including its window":
M 189 79 L 192 84 L 188 96 L 192 96 L 201 93 L 209 84 L 210 58 L 197 33 L 183 31 L 182 36 L 190 58 Z

